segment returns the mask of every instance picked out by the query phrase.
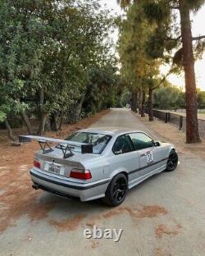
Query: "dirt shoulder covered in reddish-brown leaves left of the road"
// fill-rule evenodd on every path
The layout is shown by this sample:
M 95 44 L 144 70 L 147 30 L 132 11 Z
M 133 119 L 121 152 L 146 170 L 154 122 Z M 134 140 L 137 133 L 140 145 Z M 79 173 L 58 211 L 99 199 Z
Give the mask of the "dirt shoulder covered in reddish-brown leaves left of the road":
M 58 132 L 47 132 L 45 135 L 55 138 L 66 138 L 75 130 L 91 126 L 109 110 L 99 112 L 93 117 L 77 122 L 75 125 L 65 125 Z M 16 135 L 24 134 L 24 129 L 14 130 Z M 40 205 L 37 198 L 41 191 L 31 190 L 28 171 L 33 165 L 34 152 L 39 150 L 38 142 L 23 144 L 21 147 L 11 146 L 5 130 L 1 130 L 0 139 L 0 234 L 7 226 L 16 225 L 16 219 L 27 213 L 31 219 L 47 216 L 52 203 Z M 36 210 L 37 209 L 37 210 Z M 41 211 L 38 211 L 41 209 Z

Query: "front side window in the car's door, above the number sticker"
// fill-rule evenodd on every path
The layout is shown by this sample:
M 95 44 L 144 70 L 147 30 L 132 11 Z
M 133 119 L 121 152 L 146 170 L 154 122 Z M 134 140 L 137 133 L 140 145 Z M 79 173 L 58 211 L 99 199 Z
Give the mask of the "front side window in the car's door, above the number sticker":
M 132 140 L 136 150 L 153 147 L 153 139 L 144 133 L 138 132 L 130 134 L 130 139 Z

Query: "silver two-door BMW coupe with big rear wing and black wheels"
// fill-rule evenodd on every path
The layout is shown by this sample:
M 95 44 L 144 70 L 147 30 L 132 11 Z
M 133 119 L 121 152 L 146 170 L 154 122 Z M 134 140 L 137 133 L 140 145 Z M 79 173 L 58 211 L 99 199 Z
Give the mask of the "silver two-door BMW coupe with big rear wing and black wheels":
M 104 198 L 117 206 L 127 190 L 161 171 L 174 171 L 178 164 L 172 144 L 139 130 L 89 128 L 66 140 L 22 137 L 38 139 L 41 145 L 30 170 L 33 188 L 81 201 Z

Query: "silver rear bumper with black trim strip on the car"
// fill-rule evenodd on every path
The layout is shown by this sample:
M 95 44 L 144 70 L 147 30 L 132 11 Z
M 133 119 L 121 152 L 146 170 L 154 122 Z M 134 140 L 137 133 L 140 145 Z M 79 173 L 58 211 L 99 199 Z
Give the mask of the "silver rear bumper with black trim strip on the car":
M 110 181 L 106 179 L 89 183 L 72 182 L 62 176 L 57 177 L 36 168 L 30 170 L 30 176 L 34 184 L 39 185 L 42 190 L 68 198 L 80 198 L 81 201 L 103 198 Z

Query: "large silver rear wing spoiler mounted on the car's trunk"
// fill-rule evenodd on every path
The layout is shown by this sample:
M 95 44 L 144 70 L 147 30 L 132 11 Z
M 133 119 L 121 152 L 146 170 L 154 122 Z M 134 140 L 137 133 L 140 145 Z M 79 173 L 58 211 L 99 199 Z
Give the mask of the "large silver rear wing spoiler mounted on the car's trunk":
M 39 142 L 43 154 L 53 151 L 53 149 L 49 145 L 49 142 L 59 144 L 59 148 L 62 149 L 64 158 L 69 158 L 73 156 L 74 153 L 71 150 L 74 149 L 75 147 L 80 147 L 81 153 L 93 153 L 93 144 L 82 144 L 80 142 L 68 141 L 65 139 L 55 139 L 35 135 L 19 135 L 19 142 L 21 143 L 27 143 L 33 139 Z M 63 146 L 62 144 L 66 144 L 66 146 Z

